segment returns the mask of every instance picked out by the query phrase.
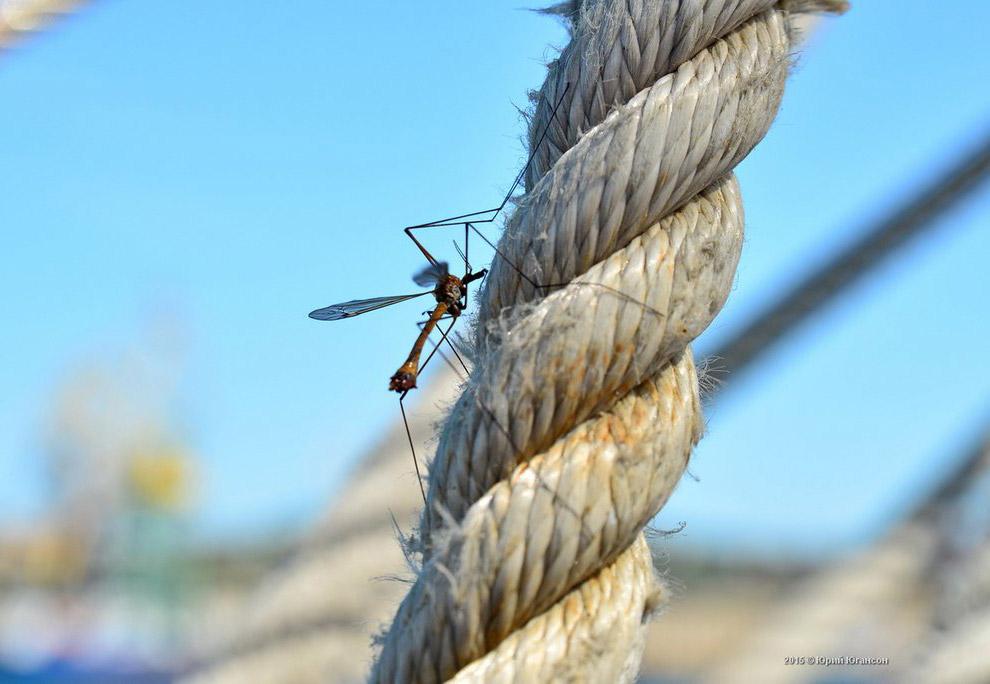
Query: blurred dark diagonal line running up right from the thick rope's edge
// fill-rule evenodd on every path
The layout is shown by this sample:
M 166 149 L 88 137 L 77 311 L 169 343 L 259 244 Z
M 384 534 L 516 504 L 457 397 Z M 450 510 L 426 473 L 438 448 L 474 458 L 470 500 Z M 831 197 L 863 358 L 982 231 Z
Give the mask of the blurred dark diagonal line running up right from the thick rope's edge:
M 718 359 L 720 371 L 738 373 L 743 370 L 910 238 L 933 227 L 941 213 L 976 190 L 988 175 L 990 135 L 934 183 L 864 231 L 862 237 L 829 262 L 814 269 L 709 356 Z

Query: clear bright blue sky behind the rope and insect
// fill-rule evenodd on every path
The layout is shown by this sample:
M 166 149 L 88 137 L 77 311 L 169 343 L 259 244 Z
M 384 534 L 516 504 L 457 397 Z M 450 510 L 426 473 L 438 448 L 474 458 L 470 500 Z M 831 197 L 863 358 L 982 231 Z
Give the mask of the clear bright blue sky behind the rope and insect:
M 306 313 L 415 290 L 401 227 L 497 203 L 566 35 L 515 1 L 292 7 L 95 3 L 0 56 L 0 518 L 43 500 L 66 374 L 162 311 L 186 337 L 200 534 L 304 522 L 396 420 L 418 302 Z M 700 350 L 990 127 L 990 5 L 930 7 L 857 2 L 811 38 L 739 169 L 738 284 Z M 931 486 L 990 416 L 988 224 L 984 185 L 727 379 L 701 481 L 661 515 L 688 522 L 673 543 L 841 548 Z

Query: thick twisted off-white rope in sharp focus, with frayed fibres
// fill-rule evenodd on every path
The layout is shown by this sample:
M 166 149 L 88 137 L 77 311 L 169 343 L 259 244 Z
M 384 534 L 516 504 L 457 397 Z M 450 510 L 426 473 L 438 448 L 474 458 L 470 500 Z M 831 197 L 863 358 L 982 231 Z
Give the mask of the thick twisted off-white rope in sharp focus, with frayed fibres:
M 635 677 L 663 596 L 642 529 L 701 435 L 688 345 L 742 243 L 731 170 L 779 105 L 790 12 L 841 4 L 596 0 L 576 15 L 542 89 L 564 93 L 560 120 L 499 243 L 475 370 L 430 469 L 425 564 L 373 679 Z

